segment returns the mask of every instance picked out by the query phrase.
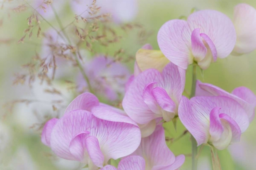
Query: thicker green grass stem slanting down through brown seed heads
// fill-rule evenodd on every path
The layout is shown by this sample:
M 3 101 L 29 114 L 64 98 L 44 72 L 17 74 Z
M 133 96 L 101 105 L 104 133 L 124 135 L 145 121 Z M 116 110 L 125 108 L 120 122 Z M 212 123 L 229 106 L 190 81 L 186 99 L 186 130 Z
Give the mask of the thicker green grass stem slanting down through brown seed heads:
M 57 22 L 58 22 L 58 24 L 59 24 L 59 26 L 60 26 L 60 29 L 62 30 L 63 34 L 66 36 L 66 38 L 67 38 L 69 44 L 71 44 L 71 40 L 69 39 L 69 36 L 68 36 L 68 34 L 66 33 L 66 31 L 63 29 L 63 24 L 62 24 L 62 22 L 61 22 L 61 20 L 60 20 L 60 18 L 59 18 L 59 16 L 58 16 L 58 14 L 57 14 L 55 8 L 53 7 L 53 5 L 51 5 L 51 6 L 52 6 L 52 9 L 53 9 L 54 15 L 55 15 L 55 17 L 56 17 L 56 19 L 57 19 Z M 87 83 L 87 85 L 88 85 L 89 91 L 90 91 L 91 93 L 93 93 L 94 90 L 93 90 L 93 88 L 91 87 L 90 81 L 89 81 L 89 79 L 88 79 L 86 73 L 84 72 L 84 69 L 83 69 L 82 64 L 79 62 L 77 53 L 74 53 L 74 54 L 75 54 L 74 56 L 75 56 L 76 64 L 77 64 L 77 66 L 79 67 L 79 69 L 80 69 L 80 71 L 81 71 L 81 73 L 82 73 L 82 75 L 83 75 L 83 77 L 84 77 L 84 80 L 86 81 L 86 83 Z

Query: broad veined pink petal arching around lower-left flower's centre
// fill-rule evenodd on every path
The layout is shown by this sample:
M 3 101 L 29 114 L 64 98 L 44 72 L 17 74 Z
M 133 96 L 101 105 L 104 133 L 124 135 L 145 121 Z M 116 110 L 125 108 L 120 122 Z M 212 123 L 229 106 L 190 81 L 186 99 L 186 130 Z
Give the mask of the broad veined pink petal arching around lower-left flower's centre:
M 54 126 L 51 135 L 53 152 L 61 158 L 77 160 L 70 153 L 69 144 L 76 134 L 84 131 L 98 138 L 105 162 L 131 154 L 141 141 L 138 126 L 98 119 L 87 111 L 75 110 L 65 114 Z

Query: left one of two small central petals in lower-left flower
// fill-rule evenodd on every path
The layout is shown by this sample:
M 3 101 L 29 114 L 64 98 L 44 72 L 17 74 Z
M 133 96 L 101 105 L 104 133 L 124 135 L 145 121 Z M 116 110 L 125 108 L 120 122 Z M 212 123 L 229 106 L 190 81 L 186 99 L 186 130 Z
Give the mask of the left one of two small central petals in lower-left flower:
M 85 155 L 87 153 L 85 141 L 89 135 L 89 131 L 80 132 L 71 139 L 69 144 L 70 153 L 79 160 L 79 162 L 87 163 L 87 155 Z

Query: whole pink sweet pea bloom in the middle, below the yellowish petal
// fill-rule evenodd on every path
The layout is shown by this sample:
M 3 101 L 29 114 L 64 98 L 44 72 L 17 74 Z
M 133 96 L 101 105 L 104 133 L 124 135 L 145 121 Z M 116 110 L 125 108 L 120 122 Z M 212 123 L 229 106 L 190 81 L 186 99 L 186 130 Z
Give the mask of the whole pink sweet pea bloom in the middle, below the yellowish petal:
M 148 69 L 130 84 L 123 99 L 127 115 L 152 134 L 157 121 L 170 121 L 177 115 L 185 84 L 185 70 L 169 63 L 160 73 Z M 142 135 L 145 137 L 144 135 Z

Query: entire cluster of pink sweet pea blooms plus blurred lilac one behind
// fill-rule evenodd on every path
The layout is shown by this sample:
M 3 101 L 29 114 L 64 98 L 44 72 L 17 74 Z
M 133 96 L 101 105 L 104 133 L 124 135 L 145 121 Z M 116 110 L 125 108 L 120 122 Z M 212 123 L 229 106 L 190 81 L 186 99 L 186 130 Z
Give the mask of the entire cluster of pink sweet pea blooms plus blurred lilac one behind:
M 95 94 L 108 100 L 125 91 L 123 109 L 101 103 L 94 94 L 85 92 L 69 104 L 61 118 L 46 122 L 42 142 L 57 156 L 76 160 L 89 170 L 179 169 L 185 156 L 175 157 L 169 150 L 162 126 L 177 118 L 197 146 L 223 150 L 238 142 L 254 118 L 256 96 L 246 87 L 229 93 L 196 81 L 196 67 L 204 70 L 217 58 L 256 49 L 255 21 L 256 10 L 247 4 L 235 7 L 233 22 L 214 10 L 194 12 L 186 21 L 170 20 L 158 32 L 160 50 L 143 46 L 129 79 L 129 72 L 121 65 L 107 67 L 112 60 L 96 57 L 86 67 L 88 81 L 95 81 L 90 83 Z M 188 99 L 183 91 L 190 64 L 195 69 Z M 106 80 L 102 75 L 119 78 Z M 121 75 L 125 79 L 121 80 Z M 81 80 L 82 75 L 80 86 L 88 86 Z M 117 168 L 111 159 L 120 159 Z

